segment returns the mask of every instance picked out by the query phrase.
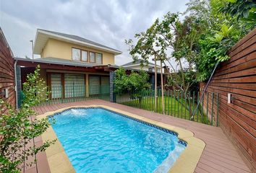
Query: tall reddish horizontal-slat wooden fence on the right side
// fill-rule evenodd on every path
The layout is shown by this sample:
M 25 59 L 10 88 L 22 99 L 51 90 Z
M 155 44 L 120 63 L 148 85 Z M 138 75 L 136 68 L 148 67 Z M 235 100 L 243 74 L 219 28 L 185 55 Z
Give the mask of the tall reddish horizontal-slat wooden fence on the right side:
M 217 123 L 218 114 L 219 125 L 256 172 L 256 29 L 236 43 L 229 56 L 229 61 L 218 66 L 207 92 L 220 95 L 214 120 Z M 204 86 L 200 84 L 201 94 Z

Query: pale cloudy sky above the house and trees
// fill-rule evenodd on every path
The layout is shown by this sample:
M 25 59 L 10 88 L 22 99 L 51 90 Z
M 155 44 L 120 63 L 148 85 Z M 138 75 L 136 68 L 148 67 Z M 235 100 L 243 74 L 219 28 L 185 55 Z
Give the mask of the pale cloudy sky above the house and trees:
M 0 27 L 15 57 L 32 56 L 38 28 L 85 37 L 121 50 L 116 65 L 132 61 L 124 40 L 147 30 L 189 0 L 0 0 Z M 37 56 L 38 57 L 38 56 Z

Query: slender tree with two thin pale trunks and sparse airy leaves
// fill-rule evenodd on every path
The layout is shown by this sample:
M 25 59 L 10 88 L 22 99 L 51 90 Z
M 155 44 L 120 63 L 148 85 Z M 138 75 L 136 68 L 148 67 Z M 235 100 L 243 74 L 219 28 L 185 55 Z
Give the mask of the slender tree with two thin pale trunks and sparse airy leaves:
M 132 40 L 126 41 L 129 45 L 129 53 L 136 61 L 138 58 L 142 59 L 142 62 L 148 63 L 149 58 L 153 57 L 155 61 L 155 110 L 157 102 L 157 88 L 156 88 L 156 61 L 162 63 L 167 59 L 168 49 L 173 46 L 171 40 L 174 35 L 171 32 L 171 25 L 176 22 L 179 14 L 168 13 L 164 16 L 163 20 L 156 19 L 153 25 L 145 32 L 135 35 L 137 43 L 133 45 Z M 143 64 L 141 64 L 143 66 Z M 161 69 L 161 93 L 162 93 L 162 112 L 164 113 L 164 89 L 163 89 L 163 71 Z

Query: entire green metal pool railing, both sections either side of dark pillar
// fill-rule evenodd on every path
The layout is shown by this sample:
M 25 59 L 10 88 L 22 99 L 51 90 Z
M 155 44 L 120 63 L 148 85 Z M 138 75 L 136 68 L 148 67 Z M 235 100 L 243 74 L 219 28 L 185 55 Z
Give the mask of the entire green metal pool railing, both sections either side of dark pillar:
M 108 85 L 85 86 L 72 84 L 66 85 L 64 88 L 62 86 L 51 86 L 48 88 L 48 92 L 47 101 L 40 105 L 80 102 L 90 99 L 110 100 L 110 87 Z M 200 92 L 184 93 L 179 90 L 165 90 L 163 97 L 162 104 L 161 89 L 157 90 L 156 102 L 153 89 L 144 92 L 130 91 L 121 94 L 116 93 L 116 103 L 218 126 L 219 94 L 205 93 L 199 105 Z

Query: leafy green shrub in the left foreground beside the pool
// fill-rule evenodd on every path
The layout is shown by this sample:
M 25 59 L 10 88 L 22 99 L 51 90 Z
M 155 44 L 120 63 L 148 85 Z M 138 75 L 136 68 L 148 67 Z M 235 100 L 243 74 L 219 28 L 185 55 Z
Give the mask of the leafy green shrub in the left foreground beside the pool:
M 23 85 L 25 99 L 20 110 L 14 110 L 11 105 L 0 100 L 1 107 L 7 108 L 0 117 L 0 172 L 20 172 L 20 167 L 24 171 L 26 166 L 33 164 L 25 164 L 28 156 L 45 151 L 56 141 L 46 141 L 42 146 L 26 146 L 51 125 L 47 118 L 31 118 L 36 115 L 32 107 L 45 100 L 47 94 L 45 82 L 39 78 L 39 71 L 38 67 L 34 74 L 27 75 L 27 82 Z

